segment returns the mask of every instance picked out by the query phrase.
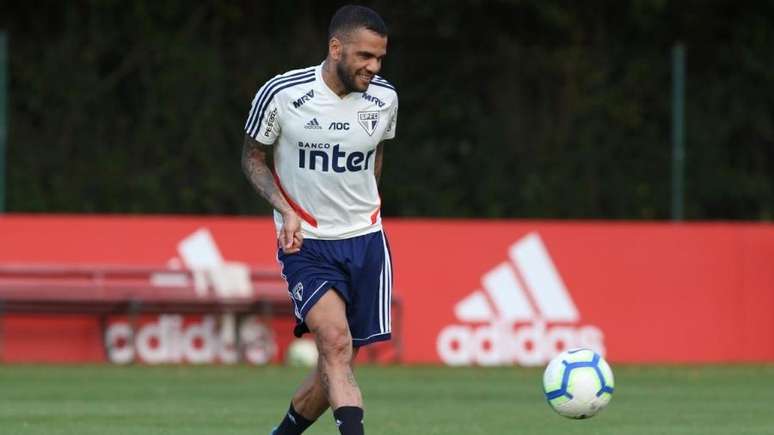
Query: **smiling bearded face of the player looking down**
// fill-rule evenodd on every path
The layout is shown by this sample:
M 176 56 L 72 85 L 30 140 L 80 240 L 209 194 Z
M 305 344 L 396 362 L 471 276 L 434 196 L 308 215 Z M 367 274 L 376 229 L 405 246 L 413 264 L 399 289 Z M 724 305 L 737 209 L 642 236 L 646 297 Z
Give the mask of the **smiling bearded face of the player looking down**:
M 365 92 L 371 79 L 382 69 L 387 54 L 387 37 L 360 28 L 341 42 L 336 75 L 347 92 Z

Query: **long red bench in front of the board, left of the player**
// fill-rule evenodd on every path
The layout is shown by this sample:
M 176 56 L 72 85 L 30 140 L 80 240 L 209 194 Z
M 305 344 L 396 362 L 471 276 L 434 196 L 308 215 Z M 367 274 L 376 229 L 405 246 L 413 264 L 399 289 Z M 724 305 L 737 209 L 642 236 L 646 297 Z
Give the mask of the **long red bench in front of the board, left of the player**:
M 144 314 L 293 316 L 287 285 L 276 268 L 247 270 L 249 288 L 216 291 L 207 271 L 126 265 L 0 264 L 0 322 L 4 314 L 94 315 L 106 331 L 110 316 L 133 329 Z M 222 290 L 222 289 L 221 289 Z M 393 297 L 392 360 L 401 360 L 402 306 Z M 0 337 L 2 335 L 0 323 Z M 239 334 L 235 334 L 239 337 Z M 106 351 L 110 344 L 104 341 Z M 239 349 L 237 343 L 237 349 Z M 369 346 L 368 348 L 377 349 Z M 0 349 L 1 350 L 1 349 Z M 375 360 L 376 350 L 368 357 Z

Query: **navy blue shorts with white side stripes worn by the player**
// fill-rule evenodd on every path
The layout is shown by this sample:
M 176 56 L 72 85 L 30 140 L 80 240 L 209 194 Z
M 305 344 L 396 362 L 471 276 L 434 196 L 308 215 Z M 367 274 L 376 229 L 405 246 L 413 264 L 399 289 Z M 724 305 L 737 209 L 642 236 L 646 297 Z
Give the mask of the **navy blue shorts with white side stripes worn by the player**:
M 382 231 L 344 240 L 304 239 L 301 251 L 277 251 L 282 276 L 296 315 L 294 334 L 309 328 L 304 319 L 329 289 L 347 304 L 352 345 L 363 346 L 390 339 L 392 262 Z

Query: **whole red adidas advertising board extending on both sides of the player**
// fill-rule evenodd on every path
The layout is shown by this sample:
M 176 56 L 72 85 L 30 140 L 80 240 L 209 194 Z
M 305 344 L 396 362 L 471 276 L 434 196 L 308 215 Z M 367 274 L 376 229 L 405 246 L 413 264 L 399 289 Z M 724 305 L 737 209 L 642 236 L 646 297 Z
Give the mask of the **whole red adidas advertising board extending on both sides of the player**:
M 574 346 L 613 362 L 774 361 L 772 225 L 386 219 L 385 227 L 406 363 L 537 365 Z M 267 218 L 148 216 L 3 216 L 0 264 L 173 267 L 187 261 L 181 240 L 201 230 L 227 261 L 276 267 Z M 89 316 L 0 322 L 2 361 L 111 355 Z M 276 322 L 282 347 L 290 323 Z M 142 323 L 146 362 L 230 358 L 207 341 L 218 331 L 206 317 Z M 169 337 L 198 344 L 158 350 Z

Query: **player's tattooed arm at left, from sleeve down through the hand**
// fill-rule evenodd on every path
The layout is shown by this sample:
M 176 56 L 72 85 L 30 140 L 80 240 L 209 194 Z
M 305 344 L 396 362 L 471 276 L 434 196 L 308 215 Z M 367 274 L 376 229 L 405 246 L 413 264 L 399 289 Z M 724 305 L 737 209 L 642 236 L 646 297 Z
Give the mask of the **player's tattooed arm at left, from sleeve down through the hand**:
M 301 249 L 301 220 L 288 204 L 274 181 L 272 169 L 274 147 L 263 145 L 249 135 L 245 135 L 242 146 L 242 171 L 253 188 L 282 214 L 283 225 L 279 234 L 280 245 L 285 253 L 292 254 Z

